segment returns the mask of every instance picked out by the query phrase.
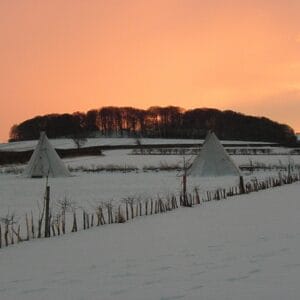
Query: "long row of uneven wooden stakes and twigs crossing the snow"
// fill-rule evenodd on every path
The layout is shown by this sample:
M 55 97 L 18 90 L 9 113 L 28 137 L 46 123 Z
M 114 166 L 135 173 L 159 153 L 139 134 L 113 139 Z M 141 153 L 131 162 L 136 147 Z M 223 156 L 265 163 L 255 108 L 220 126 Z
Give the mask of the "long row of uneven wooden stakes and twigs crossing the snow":
M 291 184 L 296 181 L 300 181 L 299 171 L 297 173 L 289 172 L 288 174 L 279 172 L 278 177 L 273 176 L 264 180 L 253 179 L 251 182 L 247 182 L 243 188 L 241 186 L 232 186 L 212 191 L 202 191 L 202 196 L 199 189 L 194 188 L 194 190 L 186 195 L 181 192 L 177 196 L 171 194 L 164 198 L 157 196 L 155 199 L 149 198 L 144 200 L 126 197 L 122 199 L 121 203 L 115 205 L 109 201 L 103 202 L 97 205 L 92 213 L 81 208 L 81 216 L 78 212 L 79 209 L 76 208 L 71 201 L 64 199 L 58 202 L 59 213 L 56 215 L 52 215 L 49 210 L 47 215 L 47 208 L 44 205 L 37 219 L 34 218 L 31 212 L 30 216 L 25 214 L 25 223 L 22 224 L 17 224 L 14 214 L 7 214 L 5 217 L 2 217 L 0 219 L 0 248 L 36 238 L 60 236 L 66 233 L 77 232 L 80 230 L 78 226 L 79 218 L 82 218 L 81 230 L 88 230 L 93 227 L 113 223 L 125 223 L 141 216 L 166 213 L 178 209 L 181 206 L 193 207 L 200 205 L 202 202 L 212 200 L 220 201 L 227 197 L 257 192 Z M 46 191 L 45 200 L 50 195 L 50 191 L 48 189 Z M 46 201 L 44 201 L 44 203 L 46 203 Z M 70 213 L 72 216 L 71 219 L 66 218 L 67 213 Z M 67 224 L 67 222 L 69 222 L 69 224 Z M 21 230 L 21 226 L 24 226 L 25 230 Z M 70 228 L 70 230 L 68 231 L 67 228 Z M 23 236 L 21 234 L 22 232 Z

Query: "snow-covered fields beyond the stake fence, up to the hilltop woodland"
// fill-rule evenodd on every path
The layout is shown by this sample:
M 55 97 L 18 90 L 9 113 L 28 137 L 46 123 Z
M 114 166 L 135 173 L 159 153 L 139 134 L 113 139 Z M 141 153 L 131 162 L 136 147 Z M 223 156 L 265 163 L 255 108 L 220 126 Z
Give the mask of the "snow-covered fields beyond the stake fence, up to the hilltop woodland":
M 177 139 L 141 139 L 142 144 L 194 144 L 197 147 L 203 140 L 177 140 Z M 232 141 L 225 141 L 233 143 Z M 25 151 L 33 149 L 37 141 L 25 141 L 1 144 L 0 150 Z M 74 144 L 69 139 L 51 140 L 56 148 L 73 148 Z M 249 144 L 251 142 L 236 142 Z M 85 146 L 99 145 L 135 145 L 136 139 L 89 139 Z M 261 149 L 268 148 L 261 143 Z M 243 147 L 242 147 L 243 148 Z M 266 167 L 287 167 L 288 164 L 300 165 L 300 155 L 289 156 L 288 148 L 272 147 L 269 155 L 232 155 L 237 165 L 263 165 Z M 50 178 L 51 201 L 53 209 L 55 203 L 65 197 L 76 202 L 78 207 L 93 211 L 99 202 L 112 201 L 119 203 L 126 197 L 135 199 L 149 199 L 158 196 L 166 197 L 171 194 L 179 195 L 182 184 L 183 158 L 192 162 L 195 155 L 134 155 L 132 149 L 118 149 L 103 151 L 102 156 L 82 156 L 65 158 L 64 163 L 69 167 L 73 177 Z M 281 153 L 279 155 L 279 153 Z M 38 214 L 38 201 L 44 196 L 45 179 L 28 179 L 20 175 L 25 165 L 0 166 L 0 216 L 8 211 L 15 212 L 23 217 L 25 213 L 34 211 Z M 245 173 L 245 180 L 251 181 L 255 177 L 278 175 L 278 170 L 268 172 Z M 223 186 L 236 186 L 237 178 L 200 179 L 188 178 L 188 190 L 195 187 L 200 192 L 207 189 L 216 189 Z

